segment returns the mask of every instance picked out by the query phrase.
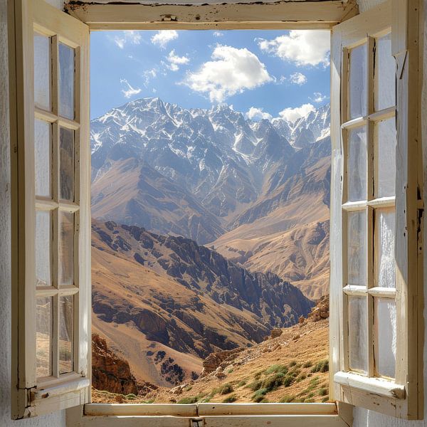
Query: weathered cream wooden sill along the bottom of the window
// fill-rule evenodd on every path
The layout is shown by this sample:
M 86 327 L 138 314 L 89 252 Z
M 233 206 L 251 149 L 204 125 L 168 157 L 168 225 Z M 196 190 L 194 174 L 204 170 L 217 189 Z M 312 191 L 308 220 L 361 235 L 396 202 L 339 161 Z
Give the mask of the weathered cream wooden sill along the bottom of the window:
M 199 423 L 197 423 L 199 421 Z M 87 404 L 68 427 L 348 427 L 335 404 Z

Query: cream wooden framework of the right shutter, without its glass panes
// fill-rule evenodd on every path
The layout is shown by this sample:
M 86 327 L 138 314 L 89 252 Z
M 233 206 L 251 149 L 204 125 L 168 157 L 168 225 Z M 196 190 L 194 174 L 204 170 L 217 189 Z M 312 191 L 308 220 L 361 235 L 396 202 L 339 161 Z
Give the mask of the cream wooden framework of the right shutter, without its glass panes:
M 332 30 L 332 81 L 331 81 L 331 130 L 332 130 L 332 190 L 331 190 L 331 307 L 338 307 L 330 317 L 330 367 L 334 396 L 340 401 L 361 406 L 389 416 L 406 419 L 423 418 L 423 260 L 422 260 L 422 216 L 423 179 L 421 135 L 419 126 L 420 75 L 418 0 L 391 0 L 369 11 L 370 15 L 357 16 L 352 22 L 338 25 Z M 349 25 L 348 25 L 349 24 Z M 384 31 L 383 31 L 384 30 Z M 396 113 L 394 107 L 373 112 L 372 99 L 367 99 L 367 117 L 347 122 L 347 49 L 357 46 L 364 39 L 368 44 L 368 73 L 372 73 L 372 37 L 381 36 L 391 30 L 392 53 L 396 58 Z M 342 53 L 343 52 L 343 53 Z M 342 53 L 342 54 L 341 54 Z M 343 59 L 341 59 L 343 58 Z M 421 56 L 422 58 L 422 56 Z M 368 80 L 369 81 L 369 80 Z M 369 88 L 369 85 L 368 85 Z M 372 88 L 371 88 L 372 90 Z M 369 98 L 369 96 L 367 97 Z M 340 110 L 341 106 L 341 110 Z M 344 112 L 344 114 L 343 114 Z M 394 197 L 371 199 L 363 203 L 347 202 L 346 172 L 343 140 L 349 127 L 367 125 L 367 144 L 372 147 L 373 125 L 371 122 L 399 117 L 396 147 L 396 199 Z M 344 125 L 342 125 L 342 123 Z M 369 148 L 368 148 L 369 153 Z M 369 153 L 373 154 L 373 153 Z M 368 176 L 372 155 L 368 156 Z M 368 194 L 371 183 L 367 181 Z M 371 194 L 374 197 L 374 194 Z M 342 201 L 344 204 L 338 203 Z M 396 290 L 374 288 L 368 268 L 367 290 L 357 286 L 344 286 L 346 240 L 345 215 L 342 210 L 352 211 L 362 207 L 369 215 L 373 208 L 396 206 Z M 372 221 L 368 221 L 368 227 Z M 371 232 L 367 231 L 367 236 Z M 372 242 L 367 242 L 371 254 Z M 368 256 L 371 262 L 371 256 Z M 396 300 L 398 317 L 396 346 L 396 379 L 368 378 L 349 371 L 347 354 L 347 295 L 375 295 L 392 297 Z M 371 296 L 369 296 L 371 299 Z M 368 320 L 372 317 L 372 304 L 367 305 Z M 373 376 L 371 349 L 374 340 L 373 323 L 368 322 L 369 369 Z

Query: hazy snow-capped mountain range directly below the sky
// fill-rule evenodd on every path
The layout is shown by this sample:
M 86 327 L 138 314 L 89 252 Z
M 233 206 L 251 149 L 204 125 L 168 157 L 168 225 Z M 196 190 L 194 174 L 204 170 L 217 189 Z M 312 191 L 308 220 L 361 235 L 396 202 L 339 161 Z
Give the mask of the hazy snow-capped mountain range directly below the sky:
M 329 120 L 329 105 L 294 123 L 159 98 L 113 108 L 91 122 L 93 216 L 214 241 Z

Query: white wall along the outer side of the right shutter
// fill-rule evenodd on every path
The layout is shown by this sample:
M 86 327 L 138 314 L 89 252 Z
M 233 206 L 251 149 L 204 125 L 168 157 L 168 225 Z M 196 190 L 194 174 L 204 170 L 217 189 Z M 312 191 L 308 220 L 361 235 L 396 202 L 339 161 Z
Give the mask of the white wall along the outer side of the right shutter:
M 369 8 L 382 3 L 384 0 L 358 0 L 359 10 L 367 11 Z M 427 0 L 424 0 L 424 76 L 423 81 L 427 82 Z M 427 206 L 427 85 L 423 85 L 422 92 L 422 111 L 421 126 L 423 130 L 423 159 L 424 159 L 424 205 Z M 427 223 L 426 215 L 424 215 L 424 241 L 427 242 Z M 424 251 L 424 271 L 427 272 L 427 251 Z M 427 275 L 424 278 L 424 295 L 427 297 Z M 427 319 L 427 304 L 424 309 L 424 319 Z M 426 330 L 424 331 L 424 420 L 423 421 L 404 421 L 384 416 L 374 411 L 367 411 L 361 408 L 354 409 L 354 427 L 427 427 L 427 322 Z

